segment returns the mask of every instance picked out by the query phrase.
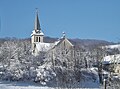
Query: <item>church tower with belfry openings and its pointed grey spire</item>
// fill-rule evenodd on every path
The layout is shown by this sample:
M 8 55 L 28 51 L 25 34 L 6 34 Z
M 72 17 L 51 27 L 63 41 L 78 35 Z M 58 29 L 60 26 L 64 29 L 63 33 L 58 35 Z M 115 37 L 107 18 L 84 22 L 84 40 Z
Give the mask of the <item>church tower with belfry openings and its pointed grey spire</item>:
M 36 10 L 34 29 L 31 34 L 31 43 L 32 43 L 32 53 L 35 51 L 36 43 L 43 43 L 44 33 L 40 28 L 40 22 L 38 18 L 38 10 Z

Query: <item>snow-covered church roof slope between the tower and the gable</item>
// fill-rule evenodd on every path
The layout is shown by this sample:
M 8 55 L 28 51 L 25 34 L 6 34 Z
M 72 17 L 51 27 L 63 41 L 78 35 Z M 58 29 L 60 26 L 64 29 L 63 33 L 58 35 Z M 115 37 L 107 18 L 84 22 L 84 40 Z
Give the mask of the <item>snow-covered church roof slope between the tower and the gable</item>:
M 53 44 L 52 43 L 36 43 L 36 48 L 38 51 L 48 51 L 50 50 L 51 48 L 53 47 Z

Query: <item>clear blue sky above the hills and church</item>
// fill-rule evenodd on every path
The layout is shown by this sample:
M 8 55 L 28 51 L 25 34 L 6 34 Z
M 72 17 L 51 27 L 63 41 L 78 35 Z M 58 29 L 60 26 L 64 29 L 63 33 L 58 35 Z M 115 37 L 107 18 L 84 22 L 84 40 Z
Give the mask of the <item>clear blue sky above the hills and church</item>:
M 0 0 L 0 37 L 30 37 L 36 7 L 46 36 L 120 41 L 120 0 Z

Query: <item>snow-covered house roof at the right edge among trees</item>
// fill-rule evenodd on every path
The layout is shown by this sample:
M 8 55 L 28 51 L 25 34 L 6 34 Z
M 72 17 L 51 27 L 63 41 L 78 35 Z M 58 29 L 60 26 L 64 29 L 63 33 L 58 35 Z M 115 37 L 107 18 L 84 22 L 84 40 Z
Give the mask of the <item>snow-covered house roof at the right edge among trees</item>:
M 103 63 L 120 63 L 120 54 L 105 56 L 103 58 Z

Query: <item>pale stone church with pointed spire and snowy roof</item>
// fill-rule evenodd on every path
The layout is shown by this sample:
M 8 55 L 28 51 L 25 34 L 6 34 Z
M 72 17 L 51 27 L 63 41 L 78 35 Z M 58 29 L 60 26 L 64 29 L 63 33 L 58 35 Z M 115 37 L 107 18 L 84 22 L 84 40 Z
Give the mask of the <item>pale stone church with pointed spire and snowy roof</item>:
M 66 38 L 65 33 L 63 36 L 53 43 L 44 42 L 44 33 L 40 27 L 40 21 L 38 17 L 38 11 L 36 11 L 34 29 L 31 34 L 31 48 L 34 56 L 39 55 L 40 52 L 49 52 L 54 55 L 69 54 L 73 56 L 74 45 Z

